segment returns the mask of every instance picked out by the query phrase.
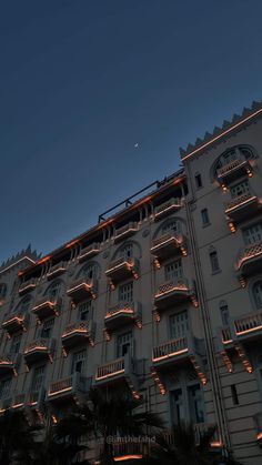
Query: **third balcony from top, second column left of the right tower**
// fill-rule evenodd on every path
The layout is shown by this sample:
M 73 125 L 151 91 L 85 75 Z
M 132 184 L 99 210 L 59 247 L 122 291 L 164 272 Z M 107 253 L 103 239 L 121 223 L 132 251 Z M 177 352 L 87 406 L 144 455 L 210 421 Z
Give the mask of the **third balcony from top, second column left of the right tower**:
M 135 323 L 142 326 L 142 307 L 140 302 L 121 302 L 111 306 L 104 317 L 105 328 L 111 332 L 125 324 Z

